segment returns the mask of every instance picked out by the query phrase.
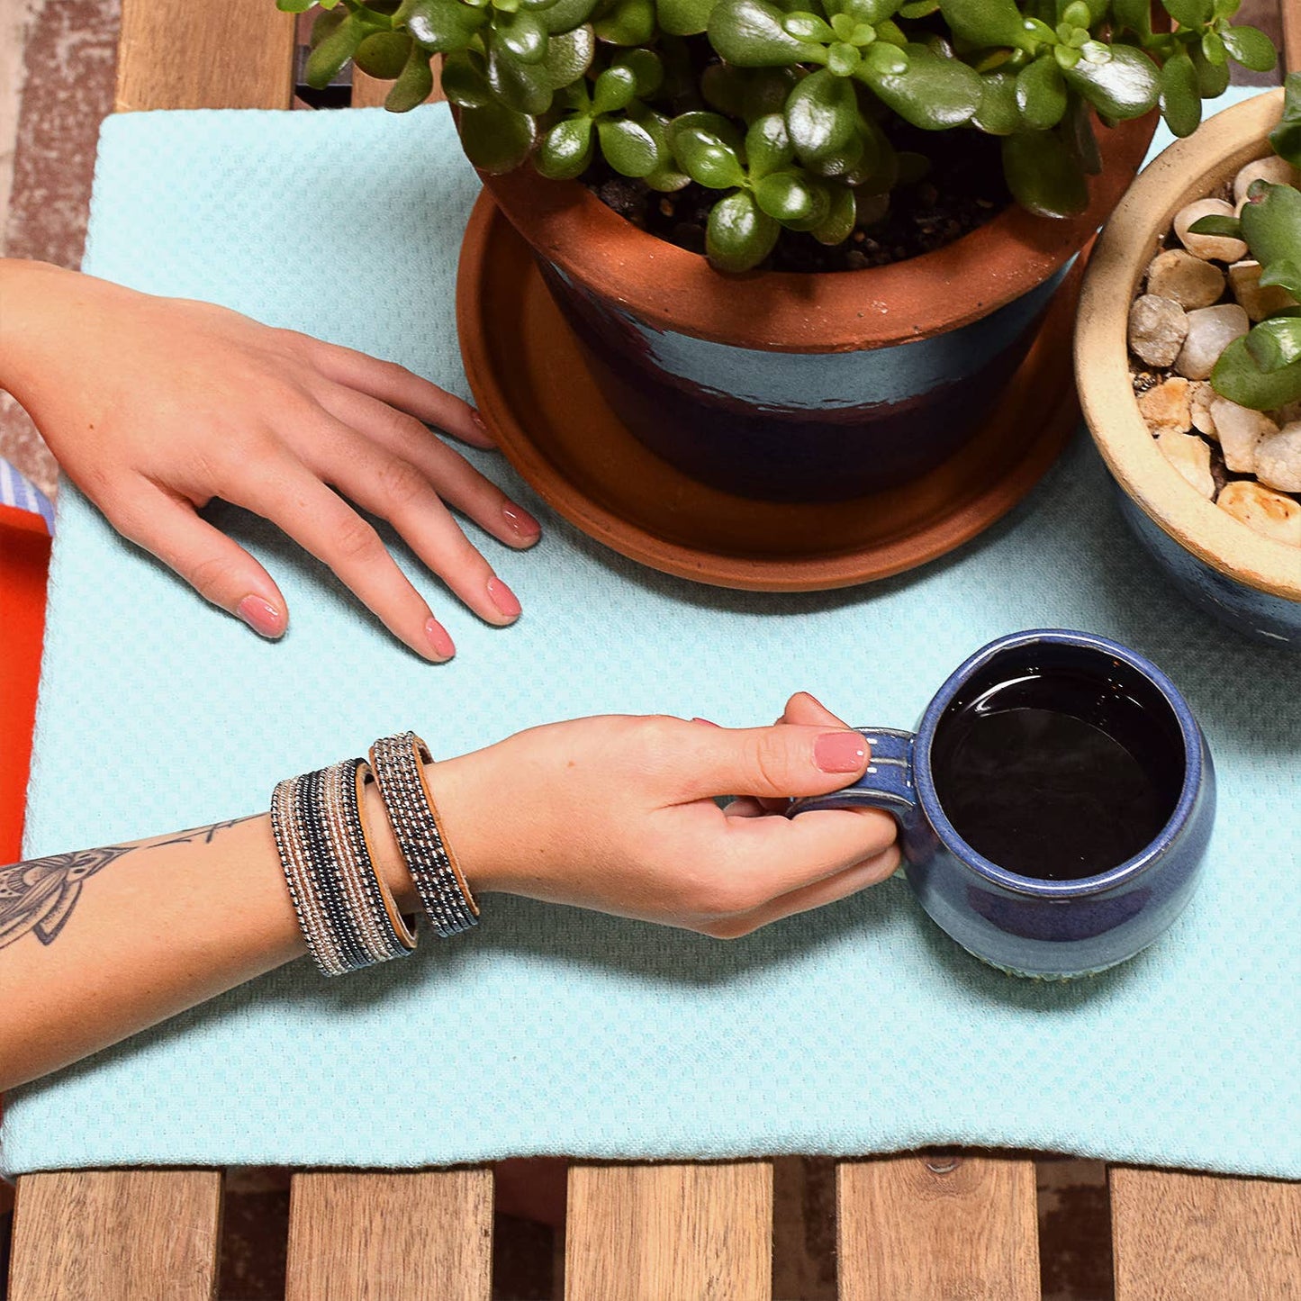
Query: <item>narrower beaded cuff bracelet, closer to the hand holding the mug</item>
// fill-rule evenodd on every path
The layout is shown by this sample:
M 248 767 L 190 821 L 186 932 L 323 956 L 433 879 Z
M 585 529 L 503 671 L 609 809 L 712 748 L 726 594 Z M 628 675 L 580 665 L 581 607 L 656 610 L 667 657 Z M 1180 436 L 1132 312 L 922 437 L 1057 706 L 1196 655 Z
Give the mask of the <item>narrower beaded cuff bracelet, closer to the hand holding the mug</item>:
M 433 929 L 446 938 L 479 924 L 479 904 L 442 834 L 424 777 L 429 747 L 415 732 L 385 736 L 371 747 L 371 768 L 393 834 Z

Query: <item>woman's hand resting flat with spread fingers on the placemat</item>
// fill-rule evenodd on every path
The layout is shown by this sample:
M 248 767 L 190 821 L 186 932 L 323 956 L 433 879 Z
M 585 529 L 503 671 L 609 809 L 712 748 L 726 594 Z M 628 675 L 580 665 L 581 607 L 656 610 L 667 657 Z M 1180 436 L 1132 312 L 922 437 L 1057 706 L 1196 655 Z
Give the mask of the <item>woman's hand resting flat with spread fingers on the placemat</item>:
M 264 636 L 288 626 L 271 575 L 195 513 L 220 497 L 278 524 L 412 650 L 449 658 L 451 637 L 347 497 L 477 615 L 519 615 L 449 507 L 507 546 L 531 546 L 540 530 L 425 428 L 490 446 L 459 398 L 222 307 L 39 263 L 0 262 L 0 386 L 113 527 L 213 605 Z

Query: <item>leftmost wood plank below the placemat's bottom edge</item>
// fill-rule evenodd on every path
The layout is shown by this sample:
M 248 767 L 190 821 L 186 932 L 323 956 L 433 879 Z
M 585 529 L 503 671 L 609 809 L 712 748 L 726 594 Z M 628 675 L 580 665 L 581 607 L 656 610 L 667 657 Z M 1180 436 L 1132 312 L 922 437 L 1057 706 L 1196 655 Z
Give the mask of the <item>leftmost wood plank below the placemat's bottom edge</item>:
M 9 1298 L 212 1301 L 220 1242 L 220 1171 L 23 1175 Z

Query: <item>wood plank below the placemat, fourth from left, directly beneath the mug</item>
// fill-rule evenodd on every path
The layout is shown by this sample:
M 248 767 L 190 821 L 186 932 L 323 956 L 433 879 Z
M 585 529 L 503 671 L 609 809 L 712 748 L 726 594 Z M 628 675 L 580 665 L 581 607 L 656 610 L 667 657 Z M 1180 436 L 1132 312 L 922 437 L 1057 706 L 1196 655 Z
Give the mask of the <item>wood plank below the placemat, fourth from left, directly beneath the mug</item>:
M 1039 1301 L 1033 1160 L 911 1154 L 837 1176 L 840 1301 Z

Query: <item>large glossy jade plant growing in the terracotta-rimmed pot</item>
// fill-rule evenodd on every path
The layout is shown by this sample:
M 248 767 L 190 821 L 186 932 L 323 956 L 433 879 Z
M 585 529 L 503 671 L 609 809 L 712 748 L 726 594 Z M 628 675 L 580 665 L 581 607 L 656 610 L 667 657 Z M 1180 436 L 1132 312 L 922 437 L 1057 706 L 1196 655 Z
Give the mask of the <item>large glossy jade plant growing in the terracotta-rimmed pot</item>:
M 319 4 L 307 81 L 343 64 L 429 94 L 431 57 L 489 173 L 532 160 L 582 177 L 598 160 L 650 190 L 712 191 L 706 251 L 744 271 L 781 230 L 826 245 L 878 220 L 928 168 L 892 127 L 998 137 L 1012 198 L 1088 206 L 1105 124 L 1159 107 L 1176 135 L 1228 85 L 1274 68 L 1240 0 L 277 0 Z M 1155 23 L 1157 14 L 1162 21 Z M 1166 22 L 1168 16 L 1171 22 Z M 1159 30 L 1159 29 L 1172 30 Z

